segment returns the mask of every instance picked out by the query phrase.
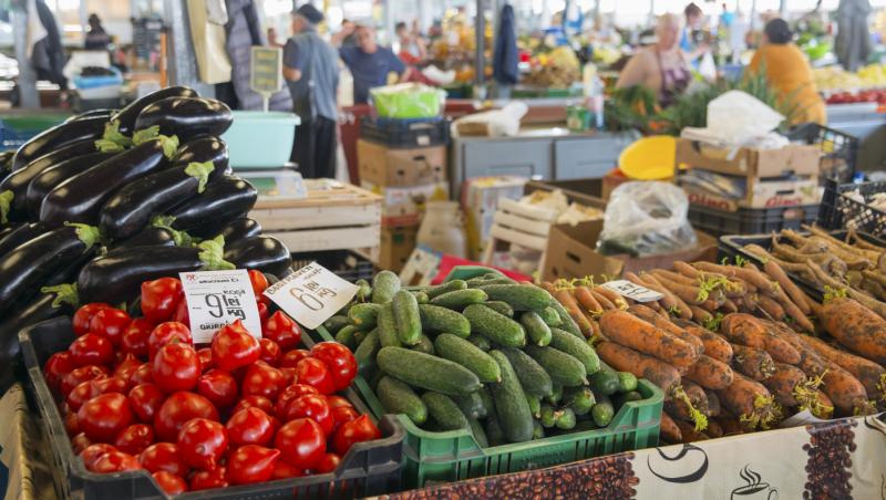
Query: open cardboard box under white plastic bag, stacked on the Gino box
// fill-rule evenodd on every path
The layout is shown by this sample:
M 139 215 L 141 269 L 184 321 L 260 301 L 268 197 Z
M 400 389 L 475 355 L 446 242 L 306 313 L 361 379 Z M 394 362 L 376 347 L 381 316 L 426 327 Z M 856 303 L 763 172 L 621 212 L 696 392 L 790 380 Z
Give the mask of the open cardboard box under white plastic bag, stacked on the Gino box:
M 677 164 L 744 177 L 818 175 L 821 150 L 789 144 L 780 149 L 722 149 L 694 140 L 677 140 Z

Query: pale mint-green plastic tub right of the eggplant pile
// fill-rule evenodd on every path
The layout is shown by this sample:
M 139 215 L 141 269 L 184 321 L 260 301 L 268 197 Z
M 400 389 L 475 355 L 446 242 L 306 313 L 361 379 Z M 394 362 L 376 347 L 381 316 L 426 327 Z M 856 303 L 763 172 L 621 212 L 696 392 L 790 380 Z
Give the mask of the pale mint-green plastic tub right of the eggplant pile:
M 293 113 L 234 111 L 230 128 L 222 135 L 234 168 L 277 168 L 289 163 L 296 126 Z

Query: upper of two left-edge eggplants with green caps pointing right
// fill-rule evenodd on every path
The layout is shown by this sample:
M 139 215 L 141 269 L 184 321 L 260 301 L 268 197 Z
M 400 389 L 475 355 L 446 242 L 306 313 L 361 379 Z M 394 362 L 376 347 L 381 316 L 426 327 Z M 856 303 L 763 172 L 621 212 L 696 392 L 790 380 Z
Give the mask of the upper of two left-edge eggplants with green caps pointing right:
M 0 260 L 0 314 L 42 285 L 58 269 L 82 257 L 97 240 L 97 228 L 65 226 L 7 253 Z

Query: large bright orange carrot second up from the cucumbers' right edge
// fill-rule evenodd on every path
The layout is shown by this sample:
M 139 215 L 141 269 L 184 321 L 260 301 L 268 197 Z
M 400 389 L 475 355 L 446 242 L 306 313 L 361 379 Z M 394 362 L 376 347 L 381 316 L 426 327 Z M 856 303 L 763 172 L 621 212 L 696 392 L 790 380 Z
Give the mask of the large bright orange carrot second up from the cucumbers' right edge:
M 600 316 L 600 329 L 612 342 L 658 357 L 678 369 L 688 368 L 699 357 L 692 344 L 652 326 L 627 311 L 606 311 Z

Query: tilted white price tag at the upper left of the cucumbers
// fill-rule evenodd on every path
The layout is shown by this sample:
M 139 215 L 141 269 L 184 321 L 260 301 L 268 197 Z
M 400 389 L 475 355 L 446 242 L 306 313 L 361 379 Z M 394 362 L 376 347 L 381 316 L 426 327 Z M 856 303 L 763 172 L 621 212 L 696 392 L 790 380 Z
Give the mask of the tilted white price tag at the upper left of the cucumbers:
M 315 330 L 346 306 L 359 289 L 311 262 L 268 287 L 265 296 L 301 325 Z

